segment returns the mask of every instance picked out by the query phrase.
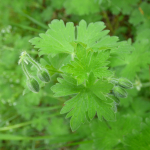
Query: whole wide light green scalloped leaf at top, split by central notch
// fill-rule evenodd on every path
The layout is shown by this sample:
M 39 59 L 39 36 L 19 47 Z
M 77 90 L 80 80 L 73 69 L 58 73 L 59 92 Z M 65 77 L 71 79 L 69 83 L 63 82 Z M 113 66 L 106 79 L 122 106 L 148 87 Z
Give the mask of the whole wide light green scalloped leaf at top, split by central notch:
M 82 42 L 87 45 L 87 49 L 92 48 L 94 51 L 110 49 L 111 53 L 121 56 L 130 52 L 132 48 L 128 42 L 118 42 L 118 37 L 107 35 L 109 30 L 103 31 L 105 25 L 101 21 L 87 25 L 86 21 L 81 20 L 75 28 L 72 22 L 66 23 L 65 26 L 62 20 L 55 19 L 49 27 L 45 34 L 42 33 L 40 37 L 30 40 L 34 47 L 40 50 L 40 55 L 74 54 L 72 42 Z

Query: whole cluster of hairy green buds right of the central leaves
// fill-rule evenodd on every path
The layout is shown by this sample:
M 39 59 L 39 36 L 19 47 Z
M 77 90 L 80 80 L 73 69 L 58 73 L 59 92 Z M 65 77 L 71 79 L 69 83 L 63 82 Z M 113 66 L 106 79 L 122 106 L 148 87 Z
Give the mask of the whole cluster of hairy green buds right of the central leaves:
M 111 93 L 114 95 L 116 103 L 119 103 L 119 98 L 127 97 L 128 93 L 125 89 L 133 88 L 131 81 L 125 78 L 113 79 L 111 83 L 115 85 Z

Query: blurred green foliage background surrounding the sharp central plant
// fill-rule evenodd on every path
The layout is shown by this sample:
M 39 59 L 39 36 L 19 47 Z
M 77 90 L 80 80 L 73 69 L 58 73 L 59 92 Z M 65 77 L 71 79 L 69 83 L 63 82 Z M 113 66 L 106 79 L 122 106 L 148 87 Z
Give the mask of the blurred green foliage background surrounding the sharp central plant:
M 117 77 L 134 83 L 128 97 L 120 100 L 115 122 L 98 121 L 95 116 L 93 121 L 72 132 L 69 120 L 60 114 L 64 102 L 71 96 L 54 97 L 51 86 L 57 83 L 60 76 L 57 69 L 65 62 L 66 55 L 42 55 L 39 59 L 38 50 L 29 43 L 45 32 L 53 19 L 74 22 L 74 25 L 81 19 L 87 23 L 104 21 L 110 35 L 118 36 L 121 41 L 128 40 L 132 45 L 131 49 L 124 46 L 123 51 L 129 50 L 129 53 L 121 53 L 122 57 L 112 54 L 109 60 L 109 67 Z M 38 94 L 24 90 L 25 75 L 18 65 L 24 50 L 52 75 L 52 81 L 42 85 Z M 57 64 L 55 57 L 59 59 Z M 34 73 L 34 68 L 28 69 Z M 148 150 L 149 126 L 149 0 L 0 2 L 0 150 Z

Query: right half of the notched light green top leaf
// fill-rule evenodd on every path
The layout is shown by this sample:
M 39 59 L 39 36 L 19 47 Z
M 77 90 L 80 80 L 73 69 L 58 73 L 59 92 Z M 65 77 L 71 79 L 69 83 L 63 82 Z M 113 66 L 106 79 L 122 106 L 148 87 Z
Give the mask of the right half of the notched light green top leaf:
M 87 48 L 94 51 L 108 50 L 117 55 L 129 53 L 133 48 L 127 41 L 118 42 L 117 36 L 109 36 L 109 30 L 103 30 L 106 26 L 103 22 L 87 23 L 84 20 L 77 26 L 77 41 L 85 43 Z

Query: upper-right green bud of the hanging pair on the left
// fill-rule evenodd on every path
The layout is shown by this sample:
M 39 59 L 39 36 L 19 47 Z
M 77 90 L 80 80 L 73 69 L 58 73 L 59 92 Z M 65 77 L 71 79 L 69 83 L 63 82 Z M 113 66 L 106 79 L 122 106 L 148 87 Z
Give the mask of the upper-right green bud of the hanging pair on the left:
M 49 82 L 50 81 L 50 75 L 49 75 L 48 71 L 44 68 L 38 70 L 37 76 L 43 82 Z

